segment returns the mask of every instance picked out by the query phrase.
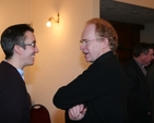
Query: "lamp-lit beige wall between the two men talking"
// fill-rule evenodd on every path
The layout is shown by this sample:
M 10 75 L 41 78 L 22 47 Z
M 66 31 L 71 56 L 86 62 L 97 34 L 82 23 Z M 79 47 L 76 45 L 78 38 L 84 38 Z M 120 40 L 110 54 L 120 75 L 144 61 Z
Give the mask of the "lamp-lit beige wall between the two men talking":
M 87 67 L 79 50 L 79 40 L 85 21 L 98 16 L 96 1 L 32 0 L 33 27 L 40 52 L 35 65 L 26 69 L 27 88 L 34 103 L 48 108 L 54 123 L 63 122 L 63 111 L 52 104 L 55 93 Z M 59 25 L 46 27 L 48 17 L 57 19 L 58 12 Z

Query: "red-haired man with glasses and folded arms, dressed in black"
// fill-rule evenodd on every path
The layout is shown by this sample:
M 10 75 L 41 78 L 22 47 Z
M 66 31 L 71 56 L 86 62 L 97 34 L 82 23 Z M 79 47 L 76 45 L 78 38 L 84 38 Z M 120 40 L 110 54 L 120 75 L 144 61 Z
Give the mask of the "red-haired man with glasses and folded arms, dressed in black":
M 80 49 L 92 64 L 62 86 L 54 104 L 66 110 L 66 123 L 127 123 L 127 77 L 115 57 L 118 36 L 105 20 L 87 21 Z

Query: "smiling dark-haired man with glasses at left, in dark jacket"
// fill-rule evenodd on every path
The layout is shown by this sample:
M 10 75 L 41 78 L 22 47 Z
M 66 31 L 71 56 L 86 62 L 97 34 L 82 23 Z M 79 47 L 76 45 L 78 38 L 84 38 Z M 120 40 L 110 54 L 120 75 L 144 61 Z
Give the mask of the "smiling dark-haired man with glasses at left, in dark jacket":
M 23 69 L 38 53 L 34 29 L 27 24 L 8 27 L 0 44 L 5 59 L 0 63 L 0 123 L 29 123 L 29 99 Z

